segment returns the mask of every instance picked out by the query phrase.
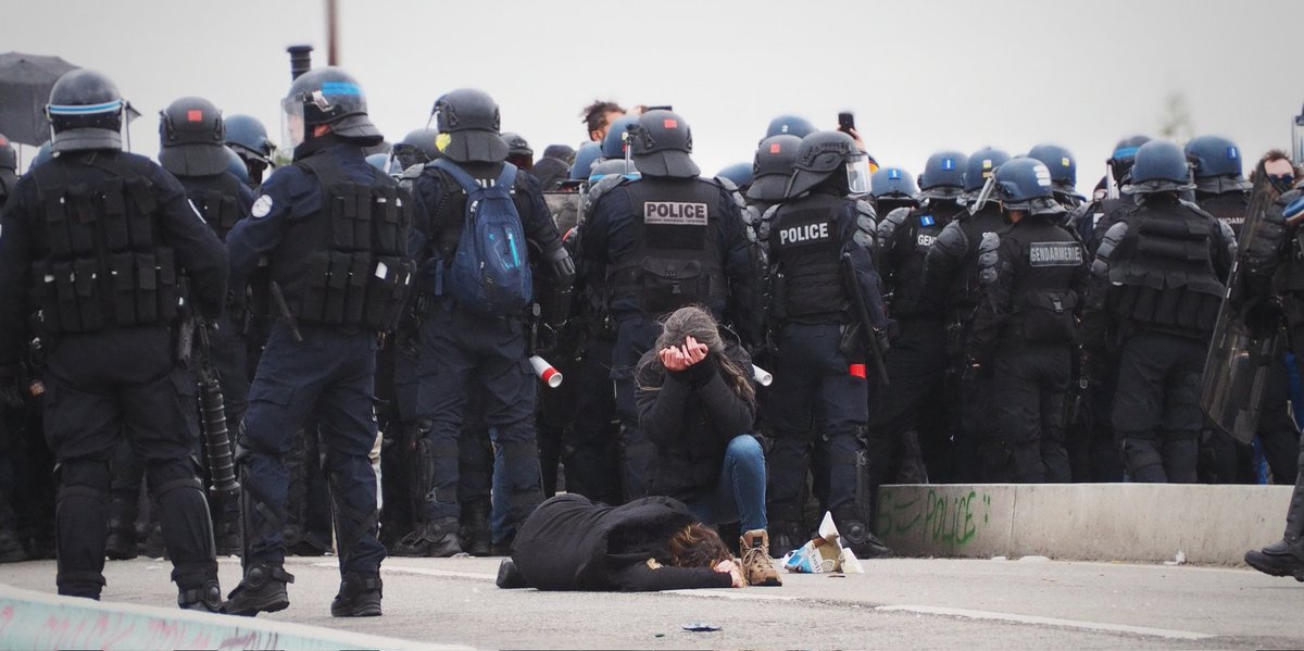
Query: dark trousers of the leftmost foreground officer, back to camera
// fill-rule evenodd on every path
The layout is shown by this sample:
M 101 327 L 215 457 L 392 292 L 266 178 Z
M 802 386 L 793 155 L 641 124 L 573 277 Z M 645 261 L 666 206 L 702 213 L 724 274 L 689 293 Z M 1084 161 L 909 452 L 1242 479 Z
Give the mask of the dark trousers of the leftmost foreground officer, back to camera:
M 145 459 L 172 581 L 183 590 L 216 578 L 213 526 L 192 454 L 196 384 L 173 364 L 167 327 L 65 335 L 48 352 L 46 437 L 59 462 L 55 514 L 59 592 L 98 598 L 104 584 L 110 458 L 124 434 Z

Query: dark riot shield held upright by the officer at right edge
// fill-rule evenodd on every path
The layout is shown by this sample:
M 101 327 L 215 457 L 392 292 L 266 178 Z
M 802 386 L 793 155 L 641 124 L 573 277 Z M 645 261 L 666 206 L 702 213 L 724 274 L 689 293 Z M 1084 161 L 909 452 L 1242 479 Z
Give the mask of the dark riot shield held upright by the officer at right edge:
M 1264 174 L 1254 190 L 1240 230 L 1244 256 L 1258 234 L 1264 211 L 1271 205 L 1271 192 Z M 1251 322 L 1247 314 L 1244 264 L 1237 260 L 1227 279 L 1227 295 L 1218 310 L 1218 324 L 1205 357 L 1200 386 L 1200 407 L 1209 421 L 1237 441 L 1249 444 L 1258 429 L 1264 408 L 1264 389 L 1273 365 L 1286 351 L 1284 330 L 1279 325 Z

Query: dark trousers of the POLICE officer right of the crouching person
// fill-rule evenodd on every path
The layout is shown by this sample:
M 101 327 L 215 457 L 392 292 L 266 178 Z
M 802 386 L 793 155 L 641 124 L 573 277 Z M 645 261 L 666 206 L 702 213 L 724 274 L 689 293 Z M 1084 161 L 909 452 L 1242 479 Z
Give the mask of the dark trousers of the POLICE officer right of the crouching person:
M 857 506 L 857 458 L 863 457 L 868 382 L 850 373 L 840 350 L 842 326 L 788 324 L 778 337 L 775 384 L 765 406 L 773 431 L 769 461 L 769 519 L 794 522 L 801 509 L 812 447 L 825 461 L 815 477 L 825 510 Z M 867 509 L 868 505 L 858 505 Z M 862 514 L 867 517 L 867 514 Z

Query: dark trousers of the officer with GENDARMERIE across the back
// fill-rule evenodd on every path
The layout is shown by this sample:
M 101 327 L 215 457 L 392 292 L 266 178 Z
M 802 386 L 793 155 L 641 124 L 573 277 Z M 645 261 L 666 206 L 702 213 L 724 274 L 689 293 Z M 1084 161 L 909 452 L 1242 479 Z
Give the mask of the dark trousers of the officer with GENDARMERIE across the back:
M 1018 483 L 1071 481 L 1064 449 L 1064 399 L 1069 374 L 1068 344 L 1029 343 L 998 351 L 992 360 L 996 438 L 985 459 Z

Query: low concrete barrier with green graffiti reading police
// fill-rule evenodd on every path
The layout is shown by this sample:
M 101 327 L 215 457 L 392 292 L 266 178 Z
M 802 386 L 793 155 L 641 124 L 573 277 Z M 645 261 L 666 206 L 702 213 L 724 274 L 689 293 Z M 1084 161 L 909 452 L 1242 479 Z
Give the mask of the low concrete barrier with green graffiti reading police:
M 887 485 L 876 531 L 901 556 L 1239 565 L 1282 537 L 1291 487 Z

